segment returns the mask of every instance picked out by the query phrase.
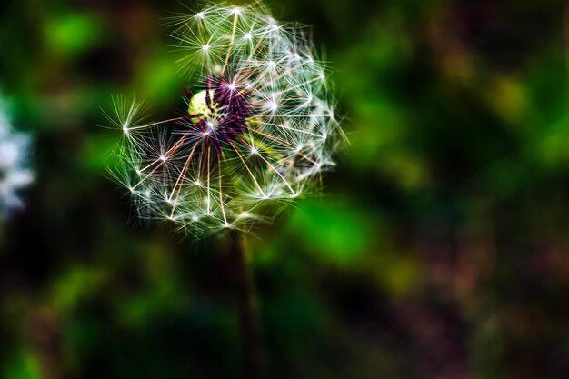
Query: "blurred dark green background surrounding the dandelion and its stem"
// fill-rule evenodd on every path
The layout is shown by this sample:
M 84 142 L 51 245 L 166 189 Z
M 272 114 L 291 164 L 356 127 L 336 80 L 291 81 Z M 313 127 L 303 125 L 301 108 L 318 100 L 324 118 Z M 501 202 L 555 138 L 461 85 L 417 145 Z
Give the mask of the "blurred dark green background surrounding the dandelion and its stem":
M 569 5 L 273 3 L 314 25 L 351 144 L 249 239 L 265 377 L 569 377 Z M 37 175 L 0 226 L 2 378 L 240 377 L 225 241 L 141 224 L 105 176 L 111 94 L 183 109 L 184 5 L 0 3 Z

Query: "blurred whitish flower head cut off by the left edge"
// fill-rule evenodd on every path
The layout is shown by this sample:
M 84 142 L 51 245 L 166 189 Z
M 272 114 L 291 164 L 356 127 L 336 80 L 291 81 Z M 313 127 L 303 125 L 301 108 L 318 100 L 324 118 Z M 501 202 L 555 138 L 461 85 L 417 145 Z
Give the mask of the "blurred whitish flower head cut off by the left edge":
M 34 179 L 27 167 L 29 135 L 15 133 L 0 105 L 0 218 L 24 206 L 18 190 Z

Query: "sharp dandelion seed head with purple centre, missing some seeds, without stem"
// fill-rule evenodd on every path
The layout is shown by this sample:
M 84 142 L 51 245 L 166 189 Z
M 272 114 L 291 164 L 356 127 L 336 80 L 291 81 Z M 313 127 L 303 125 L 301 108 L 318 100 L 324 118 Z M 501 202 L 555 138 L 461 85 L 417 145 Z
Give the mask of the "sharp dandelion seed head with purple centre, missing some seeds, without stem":
M 247 231 L 334 166 L 344 135 L 327 69 L 303 27 L 277 23 L 259 3 L 170 21 L 182 71 L 199 86 L 187 114 L 161 122 L 142 122 L 139 103 L 115 98 L 124 132 L 115 176 L 144 218 L 192 234 Z

